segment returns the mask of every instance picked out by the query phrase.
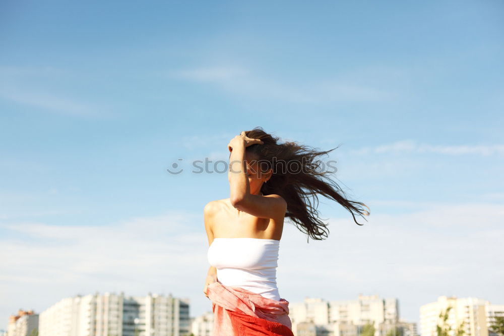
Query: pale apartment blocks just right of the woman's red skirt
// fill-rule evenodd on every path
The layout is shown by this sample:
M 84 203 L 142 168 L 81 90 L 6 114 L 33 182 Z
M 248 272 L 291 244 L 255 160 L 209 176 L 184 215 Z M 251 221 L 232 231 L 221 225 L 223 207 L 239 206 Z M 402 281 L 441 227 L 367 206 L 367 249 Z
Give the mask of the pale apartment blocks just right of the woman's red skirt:
M 416 336 L 416 324 L 399 320 L 399 301 L 378 295 L 359 295 L 356 300 L 325 301 L 306 298 L 289 304 L 292 331 L 296 336 L 357 336 L 365 324 L 373 324 L 375 336 L 401 330 Z

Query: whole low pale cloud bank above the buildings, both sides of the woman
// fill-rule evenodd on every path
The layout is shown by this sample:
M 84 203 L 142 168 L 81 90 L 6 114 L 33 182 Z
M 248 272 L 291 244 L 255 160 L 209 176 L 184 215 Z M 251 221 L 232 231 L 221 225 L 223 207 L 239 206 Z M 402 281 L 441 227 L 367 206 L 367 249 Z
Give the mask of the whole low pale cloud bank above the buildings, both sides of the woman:
M 345 213 L 330 220 L 324 241 L 306 243 L 286 221 L 277 273 L 282 297 L 377 293 L 397 297 L 403 316 L 413 320 L 421 304 L 448 292 L 504 302 L 502 204 L 426 202 L 402 214 L 366 204 L 368 222 L 358 217 L 364 226 Z M 40 312 L 63 297 L 95 291 L 190 297 L 192 316 L 211 308 L 202 293 L 209 267 L 202 213 L 173 211 L 109 226 L 4 221 L 0 230 L 4 320 L 18 308 Z

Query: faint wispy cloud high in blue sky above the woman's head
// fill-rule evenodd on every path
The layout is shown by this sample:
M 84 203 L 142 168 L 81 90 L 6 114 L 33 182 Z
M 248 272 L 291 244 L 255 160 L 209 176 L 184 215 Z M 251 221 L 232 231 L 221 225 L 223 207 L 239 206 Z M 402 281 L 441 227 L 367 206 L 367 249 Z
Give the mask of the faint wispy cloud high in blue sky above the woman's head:
M 166 75 L 166 74 L 165 74 Z M 272 76 L 241 66 L 210 66 L 171 71 L 167 77 L 215 85 L 225 91 L 253 98 L 273 98 L 288 102 L 321 103 L 332 101 L 383 101 L 397 97 L 396 93 L 348 79 L 285 83 Z

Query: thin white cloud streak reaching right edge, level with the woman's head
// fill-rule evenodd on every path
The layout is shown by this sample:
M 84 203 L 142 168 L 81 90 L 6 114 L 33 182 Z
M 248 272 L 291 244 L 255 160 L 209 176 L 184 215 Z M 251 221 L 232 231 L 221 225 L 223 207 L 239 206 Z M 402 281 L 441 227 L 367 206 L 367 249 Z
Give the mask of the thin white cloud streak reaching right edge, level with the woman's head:
M 447 155 L 504 155 L 504 145 L 430 145 L 414 140 L 401 140 L 391 144 L 374 147 L 363 147 L 352 151 L 354 154 L 403 154 L 403 153 L 436 153 Z

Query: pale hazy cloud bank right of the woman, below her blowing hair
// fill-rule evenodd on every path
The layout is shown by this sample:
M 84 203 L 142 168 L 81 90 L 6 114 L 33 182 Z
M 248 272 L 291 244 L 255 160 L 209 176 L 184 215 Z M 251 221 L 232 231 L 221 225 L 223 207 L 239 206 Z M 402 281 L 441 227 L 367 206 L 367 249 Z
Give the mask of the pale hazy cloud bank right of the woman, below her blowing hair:
M 284 228 L 277 279 L 282 297 L 396 297 L 411 320 L 418 320 L 420 305 L 440 295 L 504 303 L 498 285 L 504 282 L 503 204 L 425 203 L 403 214 L 366 204 L 368 222 L 361 219 L 364 225 L 357 226 L 350 214 L 329 220 L 324 241 L 306 244 L 296 229 Z

